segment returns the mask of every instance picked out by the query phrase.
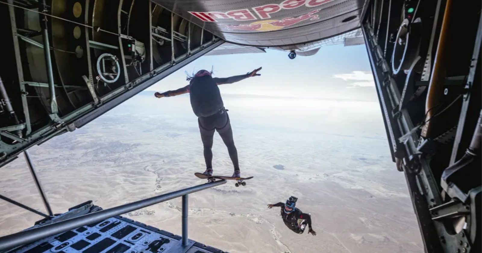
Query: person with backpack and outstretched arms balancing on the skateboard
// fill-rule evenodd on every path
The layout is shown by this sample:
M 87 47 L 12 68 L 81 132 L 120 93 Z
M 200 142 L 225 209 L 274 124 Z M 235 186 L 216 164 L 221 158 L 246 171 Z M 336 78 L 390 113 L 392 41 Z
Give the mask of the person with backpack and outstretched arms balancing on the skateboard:
M 238 162 L 238 151 L 234 146 L 233 131 L 229 122 L 227 110 L 224 108 L 223 99 L 217 85 L 233 83 L 241 81 L 248 77 L 260 76 L 257 72 L 260 68 L 240 76 L 232 76 L 228 78 L 213 78 L 212 72 L 207 70 L 199 70 L 194 77 L 188 78 L 189 84 L 183 88 L 164 93 L 156 92 L 157 98 L 169 97 L 189 93 L 191 107 L 194 114 L 198 116 L 198 125 L 201 132 L 202 145 L 204 146 L 204 160 L 206 162 L 205 175 L 213 175 L 213 137 L 214 130 L 219 133 L 224 144 L 228 147 L 229 157 L 233 162 L 233 177 L 241 177 Z

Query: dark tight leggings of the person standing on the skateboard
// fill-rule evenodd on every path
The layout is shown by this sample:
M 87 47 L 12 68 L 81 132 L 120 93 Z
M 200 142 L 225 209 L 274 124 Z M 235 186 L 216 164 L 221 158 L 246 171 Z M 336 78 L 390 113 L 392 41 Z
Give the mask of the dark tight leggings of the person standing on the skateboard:
M 229 157 L 233 162 L 234 170 L 239 171 L 238 150 L 234 146 L 233 130 L 229 122 L 229 116 L 226 110 L 220 110 L 218 113 L 209 117 L 199 117 L 199 130 L 201 132 L 202 145 L 204 146 L 204 160 L 206 168 L 213 168 L 213 138 L 214 130 L 219 133 L 224 144 L 228 147 Z

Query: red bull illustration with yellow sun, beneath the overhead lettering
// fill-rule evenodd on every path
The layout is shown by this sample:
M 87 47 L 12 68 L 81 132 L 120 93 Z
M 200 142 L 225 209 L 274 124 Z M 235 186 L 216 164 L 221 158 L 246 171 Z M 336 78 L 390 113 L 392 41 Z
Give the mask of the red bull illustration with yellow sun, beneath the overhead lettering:
M 261 20 L 256 21 L 251 24 L 241 24 L 241 25 L 225 25 L 223 26 L 227 30 L 244 30 L 244 31 L 258 31 L 258 32 L 269 32 L 269 31 L 276 31 L 280 30 L 284 27 L 293 26 L 305 20 L 317 20 L 320 19 L 318 17 L 317 12 L 321 11 L 321 9 L 311 11 L 309 13 L 303 14 L 298 17 L 287 17 L 281 20 Z

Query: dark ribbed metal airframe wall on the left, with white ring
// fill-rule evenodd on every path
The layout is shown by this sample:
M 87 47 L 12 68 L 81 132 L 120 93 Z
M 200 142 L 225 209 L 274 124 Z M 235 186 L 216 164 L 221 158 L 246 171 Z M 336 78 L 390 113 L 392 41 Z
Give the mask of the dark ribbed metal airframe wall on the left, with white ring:
M 52 3 L 56 0 L 51 0 Z M 57 1 L 63 1 L 63 0 L 57 0 Z M 128 36 L 123 34 L 123 30 L 121 26 L 125 25 L 124 19 L 121 17 L 121 14 L 125 14 L 126 12 L 122 10 L 122 4 L 123 1 L 128 1 L 128 0 L 118 0 L 119 2 L 119 9 L 118 9 L 118 30 L 116 32 L 109 31 L 108 28 L 104 27 L 95 27 L 95 24 L 92 23 L 94 22 L 93 20 L 89 19 L 92 18 L 88 14 L 89 7 L 92 6 L 89 4 L 90 0 L 84 0 L 85 1 L 85 6 L 83 8 L 86 10 L 84 13 L 85 15 L 85 23 L 82 24 L 78 21 L 76 21 L 74 18 L 68 19 L 60 16 L 55 16 L 54 13 L 52 13 L 52 6 L 49 6 L 49 4 L 45 4 L 45 0 L 41 1 L 39 3 L 39 6 L 37 7 L 38 10 L 33 7 L 27 7 L 19 4 L 16 1 L 13 0 L 7 0 L 7 1 L 0 1 L 0 7 L 8 8 L 8 13 L 10 15 L 10 21 L 11 21 L 11 27 L 12 27 L 12 34 L 13 34 L 13 51 L 15 55 L 15 62 L 16 62 L 16 70 L 18 72 L 18 76 L 16 77 L 11 77 L 11 79 L 15 79 L 15 83 L 18 82 L 19 85 L 19 90 L 21 93 L 21 107 L 23 110 L 23 117 L 21 117 L 20 123 L 14 123 L 13 125 L 7 125 L 7 126 L 1 126 L 0 127 L 0 135 L 3 136 L 3 138 L 10 140 L 9 143 L 2 141 L 0 139 L 0 167 L 5 165 L 6 163 L 14 160 L 17 158 L 17 156 L 23 151 L 29 148 L 30 146 L 33 145 L 40 145 L 41 143 L 51 139 L 52 137 L 66 133 L 66 132 L 71 132 L 75 130 L 76 128 L 80 128 L 84 126 L 86 123 L 94 120 L 98 116 L 102 115 L 103 113 L 106 113 L 108 110 L 111 108 L 119 105 L 123 101 L 129 99 L 130 97 L 134 96 L 135 94 L 141 92 L 142 90 L 146 89 L 150 85 L 158 82 L 159 80 L 163 79 L 164 77 L 172 74 L 174 71 L 178 70 L 181 67 L 186 66 L 188 63 L 192 62 L 193 60 L 199 58 L 201 55 L 208 53 L 209 51 L 213 50 L 217 46 L 221 45 L 224 43 L 224 40 L 221 40 L 220 38 L 217 38 L 215 36 L 212 36 L 213 40 L 205 40 L 205 35 L 204 33 L 209 33 L 207 31 L 204 31 L 202 27 L 197 26 L 196 24 L 192 24 L 191 22 L 181 19 L 182 22 L 187 22 L 187 28 L 186 28 L 186 34 L 182 34 L 180 32 L 174 31 L 174 29 L 178 29 L 178 23 L 176 23 L 176 27 L 174 27 L 174 22 L 180 22 L 179 18 L 177 18 L 176 14 L 170 12 L 170 38 L 165 38 L 166 43 L 170 43 L 170 56 L 169 56 L 169 61 L 163 62 L 162 64 L 158 66 L 154 66 L 155 60 L 155 52 L 153 52 L 154 48 L 157 45 L 152 45 L 153 44 L 153 31 L 152 28 L 149 28 L 147 32 L 144 32 L 147 34 L 148 38 L 150 38 L 150 41 L 145 41 L 147 47 L 147 67 L 141 66 L 139 64 L 138 66 L 140 68 L 146 69 L 146 71 L 142 71 L 142 75 L 136 76 L 135 74 L 132 74 L 132 67 L 130 67 L 129 64 L 127 64 L 125 57 L 126 55 L 124 54 L 123 50 L 123 45 L 125 45 L 125 41 L 127 40 L 134 40 L 132 36 Z M 148 3 L 148 6 L 146 5 L 146 2 Z M 153 14 L 153 5 L 156 6 L 156 8 L 162 8 L 159 5 L 156 5 L 155 3 L 152 3 L 150 1 L 138 1 L 136 4 L 144 4 L 143 6 L 147 6 L 147 9 L 144 8 L 142 9 L 143 11 L 149 12 L 151 15 Z M 69 3 L 73 4 L 73 3 Z M 98 3 L 101 4 L 101 3 Z M 109 2 L 110 4 L 110 2 Z M 130 4 L 131 8 L 134 6 L 134 1 L 132 1 L 132 4 Z M 134 6 L 135 7 L 135 6 Z M 138 7 L 140 8 L 140 7 Z M 28 38 L 27 36 L 24 36 L 21 34 L 21 30 L 26 30 L 23 29 L 22 27 L 17 26 L 17 18 L 15 17 L 15 13 L 19 10 L 24 11 L 25 13 L 34 13 L 36 15 L 39 15 L 40 17 L 43 16 L 41 26 L 42 26 L 42 31 L 39 33 L 42 35 L 42 40 L 43 43 L 39 42 L 38 40 L 33 40 L 32 38 Z M 131 10 L 132 11 L 132 10 Z M 131 14 L 131 11 L 128 12 L 128 14 Z M 168 12 L 168 10 L 163 9 L 163 11 Z M 18 13 L 18 12 L 17 12 Z M 132 12 L 133 14 L 136 14 L 135 12 Z M 70 14 L 71 15 L 71 14 Z M 137 15 L 139 15 L 137 13 Z M 82 16 L 81 16 L 82 17 Z M 174 17 L 176 17 L 174 19 Z M 102 18 L 102 17 L 100 17 Z M 53 52 L 66 52 L 61 49 L 58 49 L 55 47 L 55 44 L 52 44 L 50 42 L 53 41 L 54 34 L 49 33 L 50 29 L 53 29 L 52 23 L 54 21 L 58 22 L 64 22 L 63 24 L 71 25 L 71 26 L 78 26 L 78 27 L 85 27 L 84 31 L 82 34 L 85 36 L 85 47 L 82 52 L 85 56 L 85 62 L 87 63 L 88 67 L 86 68 L 88 70 L 88 74 L 84 75 L 82 78 L 83 80 L 80 81 L 84 83 L 84 86 L 79 86 L 79 85 L 67 85 L 63 83 L 62 79 L 60 79 L 57 76 L 60 74 L 56 74 L 56 68 L 53 70 L 53 61 L 54 61 L 54 54 L 51 55 L 51 50 Z M 129 21 L 129 20 L 128 20 Z M 127 21 L 127 22 L 128 22 Z M 161 22 L 161 21 L 159 21 Z M 164 21 L 163 21 L 164 22 Z M 165 21 L 169 22 L 169 21 Z M 148 20 L 148 24 L 150 24 L 152 27 L 156 26 L 156 24 L 152 23 L 152 16 Z M 127 23 L 127 26 L 129 24 Z M 195 29 L 198 31 L 201 30 L 200 32 L 200 37 L 201 38 L 195 38 L 193 31 Z M 81 30 L 81 29 L 80 29 Z M 134 31 L 133 31 L 134 32 Z M 103 37 L 97 37 L 94 36 L 94 34 L 101 34 L 102 36 L 117 36 L 118 39 L 118 45 L 112 45 L 109 43 L 104 43 L 103 40 L 101 40 Z M 199 34 L 198 34 L 199 35 Z M 212 35 L 210 33 L 210 35 Z M 96 38 L 99 38 L 96 40 Z M 177 39 L 176 39 L 177 38 Z M 175 42 L 179 41 L 178 38 L 187 38 L 185 45 L 187 46 L 186 49 L 181 48 L 181 44 L 184 42 Z M 25 63 L 23 61 L 25 58 L 22 57 L 22 47 L 21 44 L 19 44 L 19 40 L 22 40 L 23 43 L 28 43 L 31 45 L 34 45 L 35 47 L 41 47 L 43 48 L 44 56 L 45 56 L 45 66 L 46 66 L 46 73 L 45 75 L 48 79 L 47 82 L 45 81 L 36 81 L 36 80 L 25 80 L 25 77 L 28 75 L 24 75 L 24 70 L 25 70 Z M 27 40 L 27 41 L 26 41 Z M 194 43 L 193 41 L 196 40 L 197 42 Z M 26 42 L 24 42 L 26 41 Z M 199 42 L 200 41 L 200 42 Z M 33 43 L 33 44 L 32 44 Z M 177 44 L 176 44 L 177 43 Z M 179 44 L 180 43 L 180 44 Z M 47 45 L 47 46 L 44 46 Z M 59 51 L 60 50 L 60 51 Z M 93 73 L 93 68 L 89 66 L 94 66 L 95 61 L 94 61 L 94 55 L 92 55 L 92 52 L 94 50 L 97 50 L 95 52 L 100 52 L 102 50 L 107 51 L 107 52 L 120 52 L 120 57 L 119 57 L 119 62 L 120 62 L 120 69 L 121 73 L 118 73 L 118 75 L 123 75 L 124 78 L 120 78 L 118 82 L 121 82 L 120 85 L 117 85 L 115 89 L 111 89 L 110 92 L 107 93 L 99 93 L 96 90 L 96 86 L 98 86 L 98 81 L 97 84 L 95 84 L 96 80 L 94 80 L 94 75 Z M 110 50 L 110 51 L 109 51 Z M 112 51 L 113 50 L 113 51 Z M 92 51 L 92 52 L 91 52 Z M 182 54 L 179 54 L 179 52 L 183 52 Z M 66 52 L 69 53 L 69 52 Z M 70 53 L 76 53 L 76 52 L 70 52 Z M 58 59 L 55 59 L 58 60 Z M 94 68 L 95 69 L 95 68 Z M 55 80 L 56 81 L 55 81 Z M 81 80 L 81 79 L 80 79 Z M 123 82 L 125 80 L 125 82 Z M 56 83 L 57 82 L 57 83 Z M 15 84 L 14 83 L 14 84 Z M 123 84 L 122 84 L 123 83 Z M 26 85 L 27 84 L 27 85 Z M 110 89 L 110 86 L 106 85 L 107 88 Z M 35 127 L 33 129 L 33 123 L 32 122 L 32 108 L 29 102 L 29 98 L 32 96 L 28 93 L 29 88 L 35 88 L 35 89 L 48 89 L 48 94 L 50 99 L 47 98 L 42 98 L 42 95 L 40 96 L 40 99 L 43 99 L 47 103 L 49 103 L 48 107 L 46 106 L 46 110 L 48 111 L 48 123 L 45 124 L 42 127 Z M 62 90 L 63 89 L 63 90 Z M 70 95 L 67 93 L 67 89 L 73 90 L 73 91 L 88 91 L 91 94 L 92 101 L 83 105 L 75 105 L 72 103 Z M 70 103 L 71 106 L 74 106 L 75 109 L 71 110 L 68 113 L 64 113 L 64 115 L 60 115 L 60 102 L 58 101 L 58 98 L 61 96 L 60 91 L 65 91 L 67 96 L 65 96 L 67 103 Z M 13 96 L 13 95 L 10 95 Z M 65 106 L 64 106 L 65 107 Z M 18 108 L 18 107 L 17 107 Z M 18 113 L 17 113 L 18 114 Z M 43 124 L 43 123 L 42 123 Z M 36 124 L 37 126 L 39 125 L 38 123 Z M 15 132 L 14 132 L 15 131 Z M 21 132 L 21 134 L 18 134 L 17 132 Z

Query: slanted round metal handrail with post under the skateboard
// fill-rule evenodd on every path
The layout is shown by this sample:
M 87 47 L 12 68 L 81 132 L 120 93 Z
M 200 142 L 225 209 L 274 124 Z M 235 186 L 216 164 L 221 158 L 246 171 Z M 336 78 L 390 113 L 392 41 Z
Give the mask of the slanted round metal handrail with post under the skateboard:
M 117 207 L 105 209 L 102 211 L 84 214 L 79 217 L 71 218 L 68 220 L 60 221 L 57 223 L 35 227 L 26 231 L 21 231 L 8 236 L 0 237 L 0 251 L 6 249 L 12 249 L 27 243 L 31 243 L 43 238 L 53 236 L 68 230 L 78 228 L 80 226 L 85 226 L 93 224 L 96 222 L 101 222 L 105 219 L 123 214 L 129 213 L 150 205 L 161 203 L 167 200 L 172 200 L 183 196 L 183 242 L 187 242 L 187 194 L 208 189 L 214 186 L 220 186 L 226 184 L 226 180 L 219 180 L 211 183 L 206 183 L 203 185 L 192 186 L 189 188 L 173 191 L 170 193 L 162 194 L 159 196 L 151 197 L 144 200 L 138 200 L 132 203 L 120 205 Z M 186 196 L 186 197 L 184 197 Z M 184 231 L 186 230 L 186 231 Z

